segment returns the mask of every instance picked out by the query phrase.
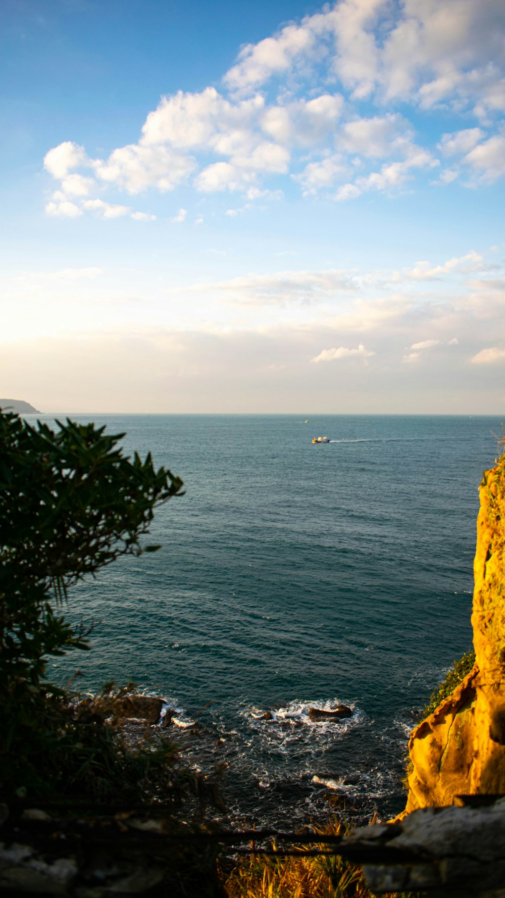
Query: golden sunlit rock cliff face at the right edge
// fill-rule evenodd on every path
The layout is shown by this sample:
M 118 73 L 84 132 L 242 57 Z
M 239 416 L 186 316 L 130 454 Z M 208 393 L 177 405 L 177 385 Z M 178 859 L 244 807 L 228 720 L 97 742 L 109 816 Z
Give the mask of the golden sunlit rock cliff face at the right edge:
M 505 794 L 505 454 L 484 471 L 474 559 L 475 664 L 409 742 L 404 814 L 456 795 Z

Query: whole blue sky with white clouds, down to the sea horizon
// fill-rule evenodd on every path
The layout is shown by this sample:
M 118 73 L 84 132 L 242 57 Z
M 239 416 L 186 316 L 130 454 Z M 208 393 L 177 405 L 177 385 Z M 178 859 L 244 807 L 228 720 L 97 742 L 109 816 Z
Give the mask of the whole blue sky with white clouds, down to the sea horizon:
M 505 4 L 4 0 L 0 393 L 505 410 Z

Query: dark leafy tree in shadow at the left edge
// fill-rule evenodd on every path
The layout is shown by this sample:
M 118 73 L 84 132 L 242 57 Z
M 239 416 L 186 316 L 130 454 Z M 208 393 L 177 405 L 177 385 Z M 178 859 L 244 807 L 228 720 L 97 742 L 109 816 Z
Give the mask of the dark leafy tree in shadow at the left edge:
M 69 586 L 120 555 L 159 549 L 140 538 L 155 506 L 182 495 L 182 480 L 155 471 L 150 454 L 142 462 L 122 453 L 124 434 L 57 423 L 56 431 L 31 427 L 0 410 L 0 786 L 7 792 L 43 791 L 48 778 L 63 777 L 60 749 L 72 739 L 63 693 L 45 680 L 46 661 L 89 647 L 62 614 Z M 89 730 L 96 721 L 84 723 Z M 74 739 L 77 753 L 85 726 Z M 70 768 L 81 764 L 68 748 L 63 754 Z

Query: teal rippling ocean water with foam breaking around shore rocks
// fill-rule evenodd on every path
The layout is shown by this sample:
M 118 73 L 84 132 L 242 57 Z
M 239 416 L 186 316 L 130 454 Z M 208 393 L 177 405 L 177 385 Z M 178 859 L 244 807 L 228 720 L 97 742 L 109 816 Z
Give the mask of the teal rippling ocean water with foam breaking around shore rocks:
M 477 489 L 500 418 L 309 418 L 93 418 L 186 495 L 155 515 L 162 550 L 75 587 L 93 649 L 52 673 L 164 695 L 190 763 L 228 765 L 235 823 L 401 810 L 409 730 L 471 647 Z M 352 717 L 311 722 L 336 703 Z

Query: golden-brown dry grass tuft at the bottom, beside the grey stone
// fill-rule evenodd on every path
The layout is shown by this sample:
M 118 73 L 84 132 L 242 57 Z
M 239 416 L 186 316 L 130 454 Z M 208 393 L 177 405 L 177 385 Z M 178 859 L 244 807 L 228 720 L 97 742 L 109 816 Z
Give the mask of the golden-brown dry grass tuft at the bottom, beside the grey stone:
M 343 835 L 346 831 L 337 820 L 313 829 L 321 835 Z M 312 844 L 310 849 L 327 851 L 328 845 Z M 222 871 L 221 879 L 228 898 L 374 898 L 361 867 L 338 855 L 304 854 L 303 847 L 296 857 L 245 856 L 231 872 Z M 407 893 L 395 893 L 397 898 L 401 895 L 407 898 Z M 412 893 L 408 895 L 414 898 Z

